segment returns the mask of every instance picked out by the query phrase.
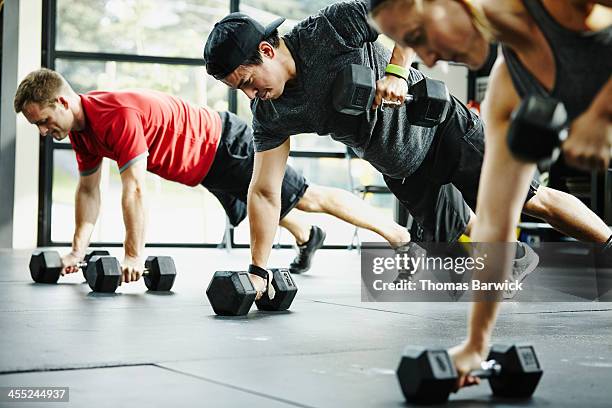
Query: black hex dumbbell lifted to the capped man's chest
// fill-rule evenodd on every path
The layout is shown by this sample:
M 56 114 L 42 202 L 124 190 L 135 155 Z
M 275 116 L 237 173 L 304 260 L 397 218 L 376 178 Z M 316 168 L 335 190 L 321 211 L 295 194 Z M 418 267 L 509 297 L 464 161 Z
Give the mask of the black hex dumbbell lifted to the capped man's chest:
M 334 109 L 347 115 L 360 115 L 372 108 L 376 96 L 374 72 L 365 65 L 347 65 L 333 84 Z M 450 108 L 450 94 L 442 81 L 425 78 L 408 88 L 405 102 L 408 120 L 415 126 L 434 127 L 444 121 Z M 385 102 L 383 105 L 397 105 Z

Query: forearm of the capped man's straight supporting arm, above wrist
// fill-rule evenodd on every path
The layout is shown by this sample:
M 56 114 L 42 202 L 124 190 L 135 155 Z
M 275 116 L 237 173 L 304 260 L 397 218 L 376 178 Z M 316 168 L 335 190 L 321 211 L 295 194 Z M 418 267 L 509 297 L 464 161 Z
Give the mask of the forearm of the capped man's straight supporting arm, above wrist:
M 251 232 L 251 263 L 265 268 L 280 218 L 280 195 L 249 190 L 247 202 Z

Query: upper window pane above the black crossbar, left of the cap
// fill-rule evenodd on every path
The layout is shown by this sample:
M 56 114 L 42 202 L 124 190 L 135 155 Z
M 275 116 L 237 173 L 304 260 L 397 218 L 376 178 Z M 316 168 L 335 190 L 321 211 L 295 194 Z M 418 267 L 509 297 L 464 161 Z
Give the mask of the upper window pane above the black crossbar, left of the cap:
M 228 0 L 57 0 L 56 49 L 202 58 Z

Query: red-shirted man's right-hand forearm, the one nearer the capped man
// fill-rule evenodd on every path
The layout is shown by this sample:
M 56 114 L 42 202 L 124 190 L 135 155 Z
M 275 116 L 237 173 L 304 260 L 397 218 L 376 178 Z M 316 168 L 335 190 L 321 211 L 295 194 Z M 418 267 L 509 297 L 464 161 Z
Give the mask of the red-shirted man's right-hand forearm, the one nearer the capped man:
M 145 201 L 140 188 L 124 188 L 121 197 L 123 223 L 125 224 L 125 256 L 142 256 L 145 246 Z

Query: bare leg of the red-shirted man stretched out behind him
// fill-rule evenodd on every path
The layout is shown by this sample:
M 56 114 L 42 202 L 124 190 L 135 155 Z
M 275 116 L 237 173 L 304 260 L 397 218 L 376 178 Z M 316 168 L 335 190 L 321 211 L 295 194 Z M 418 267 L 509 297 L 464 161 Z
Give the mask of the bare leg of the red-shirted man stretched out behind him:
M 310 185 L 296 208 L 305 212 L 329 214 L 359 228 L 368 229 L 382 236 L 392 246 L 410 241 L 410 234 L 405 227 L 346 190 Z

